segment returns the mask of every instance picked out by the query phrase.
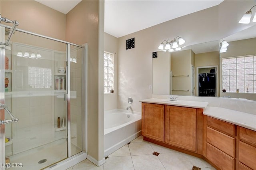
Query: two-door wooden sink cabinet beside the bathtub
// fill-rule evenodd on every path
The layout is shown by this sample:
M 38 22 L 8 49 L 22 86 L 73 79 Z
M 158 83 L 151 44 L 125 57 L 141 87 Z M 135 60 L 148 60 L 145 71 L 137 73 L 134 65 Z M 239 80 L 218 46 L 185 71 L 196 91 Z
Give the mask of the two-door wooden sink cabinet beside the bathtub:
M 142 136 L 162 146 L 202 154 L 202 112 L 203 109 L 190 107 L 142 103 Z

